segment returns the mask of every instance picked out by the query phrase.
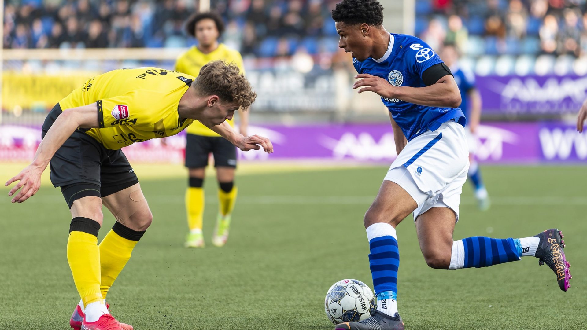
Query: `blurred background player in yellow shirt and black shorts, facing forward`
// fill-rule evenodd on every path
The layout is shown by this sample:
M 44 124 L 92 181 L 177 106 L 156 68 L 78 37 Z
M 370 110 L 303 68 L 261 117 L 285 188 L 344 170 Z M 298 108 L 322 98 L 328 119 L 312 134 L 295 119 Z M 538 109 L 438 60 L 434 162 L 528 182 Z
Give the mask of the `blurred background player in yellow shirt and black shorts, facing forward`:
M 204 12 L 192 15 L 185 29 L 189 35 L 198 40 L 198 45 L 180 55 L 176 62 L 176 71 L 198 76 L 200 68 L 211 60 L 224 60 L 234 63 L 244 74 L 241 54 L 219 43 L 218 38 L 224 31 L 220 15 Z M 247 134 L 248 112 L 239 112 L 241 122 L 239 131 Z M 232 120 L 227 121 L 234 126 Z M 204 124 L 194 123 L 185 131 L 185 167 L 188 168 L 188 188 L 185 191 L 185 208 L 190 233 L 185 240 L 186 247 L 204 247 L 202 224 L 204 215 L 204 176 L 210 153 L 214 155 L 214 167 L 218 179 L 218 218 L 212 236 L 212 244 L 221 247 L 228 240 L 231 213 L 237 198 L 234 173 L 237 167 L 237 149 L 226 139 L 210 130 Z

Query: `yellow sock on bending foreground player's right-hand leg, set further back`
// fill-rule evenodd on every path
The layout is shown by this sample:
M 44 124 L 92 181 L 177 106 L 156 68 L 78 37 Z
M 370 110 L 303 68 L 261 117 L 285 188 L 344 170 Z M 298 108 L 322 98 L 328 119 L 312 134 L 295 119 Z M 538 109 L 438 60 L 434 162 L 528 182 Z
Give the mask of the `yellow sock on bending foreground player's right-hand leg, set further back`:
M 127 240 L 119 234 L 110 230 L 106 237 L 100 242 L 100 268 L 102 281 L 100 291 L 102 298 L 106 299 L 108 289 L 112 287 L 114 280 L 118 277 L 126 262 L 129 261 L 134 245 L 139 241 Z

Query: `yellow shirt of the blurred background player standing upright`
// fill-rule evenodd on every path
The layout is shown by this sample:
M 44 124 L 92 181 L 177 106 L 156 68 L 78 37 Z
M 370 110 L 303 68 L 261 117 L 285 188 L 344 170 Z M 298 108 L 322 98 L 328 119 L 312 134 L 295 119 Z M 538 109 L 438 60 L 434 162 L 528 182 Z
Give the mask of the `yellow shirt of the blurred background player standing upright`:
M 175 70 L 197 77 L 200 69 L 212 60 L 225 60 L 228 63 L 235 63 L 238 69 L 241 70 L 241 73 L 243 75 L 245 74 L 241 54 L 237 50 L 228 48 L 224 43 L 218 44 L 218 48 L 207 54 L 204 54 L 196 46 L 193 46 L 177 58 Z M 232 120 L 227 120 L 227 122 L 230 126 L 234 126 Z M 185 132 L 203 136 L 220 136 L 200 122 L 194 122 Z

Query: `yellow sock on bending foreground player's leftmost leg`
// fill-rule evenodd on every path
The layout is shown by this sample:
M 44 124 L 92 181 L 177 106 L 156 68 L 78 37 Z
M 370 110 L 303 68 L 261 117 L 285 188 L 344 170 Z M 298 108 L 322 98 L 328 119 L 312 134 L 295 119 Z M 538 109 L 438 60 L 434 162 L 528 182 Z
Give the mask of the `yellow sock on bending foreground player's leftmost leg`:
M 100 251 L 96 235 L 71 231 L 68 237 L 68 262 L 73 282 L 83 305 L 102 301 L 100 293 Z

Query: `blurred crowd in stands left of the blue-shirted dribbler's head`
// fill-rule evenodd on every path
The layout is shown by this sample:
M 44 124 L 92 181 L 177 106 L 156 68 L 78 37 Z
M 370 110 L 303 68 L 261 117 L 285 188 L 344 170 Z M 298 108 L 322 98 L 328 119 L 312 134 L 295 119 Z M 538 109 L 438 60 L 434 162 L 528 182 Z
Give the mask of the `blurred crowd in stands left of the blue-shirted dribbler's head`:
M 243 55 L 336 50 L 329 22 L 336 0 L 211 1 L 227 22 L 224 42 Z M 197 1 L 8 0 L 4 48 L 184 47 L 184 21 Z

